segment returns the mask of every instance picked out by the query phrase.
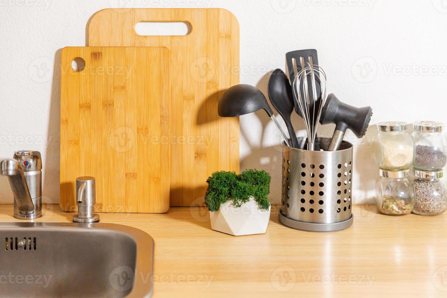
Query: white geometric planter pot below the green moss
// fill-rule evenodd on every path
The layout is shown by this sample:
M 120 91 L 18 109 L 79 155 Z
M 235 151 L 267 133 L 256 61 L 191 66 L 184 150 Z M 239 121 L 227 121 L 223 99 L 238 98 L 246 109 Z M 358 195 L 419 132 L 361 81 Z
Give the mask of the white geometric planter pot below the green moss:
M 210 219 L 211 229 L 215 231 L 234 236 L 263 234 L 269 224 L 270 207 L 269 210 L 259 209 L 253 197 L 240 207 L 227 201 L 219 211 L 210 212 Z

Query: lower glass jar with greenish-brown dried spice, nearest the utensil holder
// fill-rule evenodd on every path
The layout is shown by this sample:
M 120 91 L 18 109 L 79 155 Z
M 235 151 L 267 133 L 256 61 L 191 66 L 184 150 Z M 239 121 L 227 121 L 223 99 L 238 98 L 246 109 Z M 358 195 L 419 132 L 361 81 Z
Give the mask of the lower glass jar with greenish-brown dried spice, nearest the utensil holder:
M 410 214 L 414 205 L 414 189 L 409 170 L 387 171 L 380 169 L 376 183 L 377 208 L 386 215 Z

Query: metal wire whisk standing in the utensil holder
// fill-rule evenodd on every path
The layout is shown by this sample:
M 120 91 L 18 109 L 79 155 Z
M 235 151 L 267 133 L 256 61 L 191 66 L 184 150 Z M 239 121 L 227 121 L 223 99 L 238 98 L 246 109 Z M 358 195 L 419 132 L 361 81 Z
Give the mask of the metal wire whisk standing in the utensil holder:
M 321 87 L 320 98 L 318 98 L 316 92 L 316 81 L 320 83 Z M 311 88 L 309 88 L 309 84 L 312 85 Z M 292 89 L 306 125 L 308 150 L 313 151 L 315 150 L 316 130 L 320 122 L 321 111 L 328 97 L 325 71 L 318 65 L 307 63 L 307 66 L 295 76 Z

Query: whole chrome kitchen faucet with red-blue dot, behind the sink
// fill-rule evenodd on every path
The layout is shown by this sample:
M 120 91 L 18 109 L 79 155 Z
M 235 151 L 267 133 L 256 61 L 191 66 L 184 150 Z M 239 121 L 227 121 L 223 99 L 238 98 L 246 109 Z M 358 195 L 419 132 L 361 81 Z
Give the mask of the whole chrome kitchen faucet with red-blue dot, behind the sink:
M 0 161 L 0 174 L 8 176 L 14 194 L 14 217 L 42 216 L 42 159 L 39 151 L 16 151 Z

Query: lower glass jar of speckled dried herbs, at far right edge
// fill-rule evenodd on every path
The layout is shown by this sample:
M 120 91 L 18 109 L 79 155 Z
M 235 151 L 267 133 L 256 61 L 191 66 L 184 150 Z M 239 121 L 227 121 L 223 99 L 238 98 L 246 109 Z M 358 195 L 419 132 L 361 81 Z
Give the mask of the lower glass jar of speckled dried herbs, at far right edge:
M 419 215 L 438 215 L 447 209 L 447 187 L 441 179 L 444 171 L 414 170 L 414 208 Z

